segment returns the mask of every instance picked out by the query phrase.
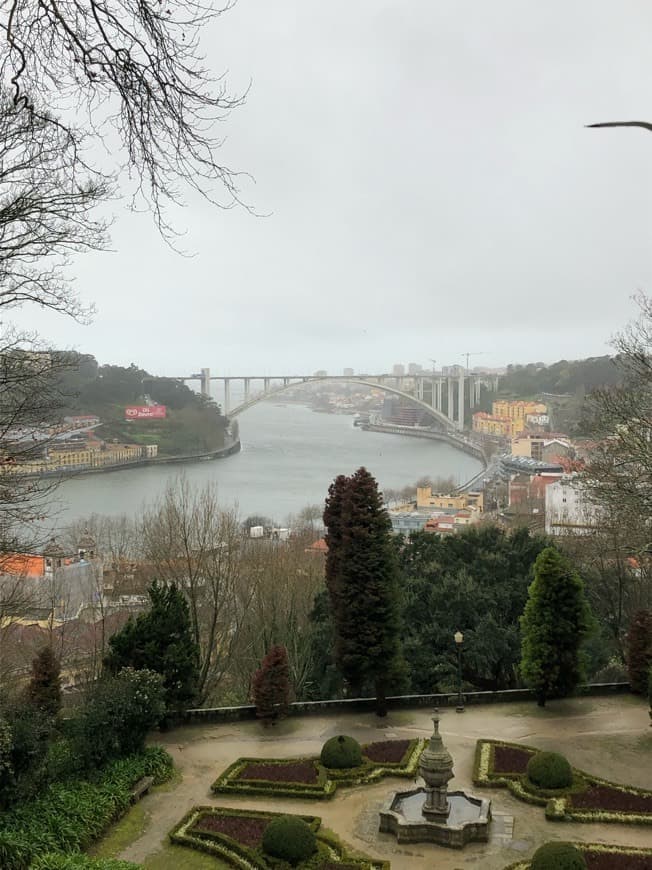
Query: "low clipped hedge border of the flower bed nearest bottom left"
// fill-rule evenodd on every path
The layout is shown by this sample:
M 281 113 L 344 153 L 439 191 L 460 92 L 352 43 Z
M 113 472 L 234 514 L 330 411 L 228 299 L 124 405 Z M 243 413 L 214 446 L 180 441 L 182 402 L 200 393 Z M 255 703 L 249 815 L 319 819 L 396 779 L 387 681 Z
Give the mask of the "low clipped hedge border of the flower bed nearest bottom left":
M 189 833 L 190 828 L 203 816 L 249 816 L 251 818 L 273 819 L 286 813 L 274 813 L 266 810 L 247 810 L 237 807 L 196 806 L 193 807 L 169 833 L 172 843 L 187 846 L 200 852 L 205 852 L 214 858 L 220 858 L 240 870 L 271 870 L 274 862 L 265 860 L 257 849 L 244 846 L 242 843 L 217 831 L 201 837 Z M 390 870 L 389 861 L 368 858 L 365 855 L 350 850 L 332 831 L 321 828 L 319 816 L 304 816 L 293 814 L 310 825 L 317 837 L 321 851 L 327 853 L 327 860 L 341 864 L 353 864 L 359 870 Z M 301 867 L 301 865 L 299 865 Z

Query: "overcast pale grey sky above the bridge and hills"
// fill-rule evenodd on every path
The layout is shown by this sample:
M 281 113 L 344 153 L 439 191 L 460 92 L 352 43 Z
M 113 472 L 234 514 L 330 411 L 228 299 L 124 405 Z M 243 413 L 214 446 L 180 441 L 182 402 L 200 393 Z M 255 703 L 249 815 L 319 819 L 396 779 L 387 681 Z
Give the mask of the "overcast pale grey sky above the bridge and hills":
M 193 199 L 182 258 L 116 206 L 60 346 L 160 374 L 385 370 L 608 351 L 652 287 L 648 0 L 239 0 L 205 34 L 224 162 L 259 213 Z

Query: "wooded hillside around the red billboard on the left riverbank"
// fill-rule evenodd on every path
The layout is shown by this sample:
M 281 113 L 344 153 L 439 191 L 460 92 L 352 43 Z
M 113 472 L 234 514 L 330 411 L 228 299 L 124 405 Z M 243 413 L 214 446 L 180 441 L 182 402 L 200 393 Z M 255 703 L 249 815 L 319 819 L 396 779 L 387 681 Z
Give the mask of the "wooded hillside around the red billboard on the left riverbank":
M 91 355 L 63 354 L 58 375 L 61 415 L 94 414 L 106 441 L 158 444 L 162 456 L 203 453 L 224 445 L 227 421 L 219 406 L 180 381 L 151 375 L 133 363 L 99 365 Z M 165 405 L 163 420 L 125 420 L 125 406 Z

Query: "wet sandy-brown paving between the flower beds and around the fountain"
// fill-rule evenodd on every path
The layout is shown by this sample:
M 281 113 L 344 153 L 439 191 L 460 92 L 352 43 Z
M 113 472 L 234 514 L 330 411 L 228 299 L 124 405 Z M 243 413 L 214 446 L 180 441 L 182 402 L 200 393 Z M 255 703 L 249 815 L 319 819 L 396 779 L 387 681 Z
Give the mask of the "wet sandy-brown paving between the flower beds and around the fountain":
M 428 737 L 432 723 L 427 709 L 397 711 L 384 720 L 363 713 L 307 716 L 268 729 L 257 722 L 180 728 L 153 742 L 172 754 L 181 779 L 143 799 L 145 830 L 119 857 L 140 862 L 158 852 L 170 829 L 197 804 L 318 815 L 349 845 L 390 860 L 392 870 L 502 870 L 553 839 L 649 846 L 649 826 L 547 822 L 543 808 L 517 801 L 506 789 L 477 789 L 471 782 L 476 740 L 494 738 L 554 749 L 574 766 L 605 779 L 652 788 L 649 722 L 647 704 L 632 696 L 557 701 L 544 710 L 519 703 L 469 707 L 460 714 L 443 711 L 440 732 L 455 762 L 449 788 L 491 798 L 495 820 L 489 843 L 472 843 L 461 851 L 431 844 L 399 846 L 391 835 L 378 832 L 380 808 L 394 791 L 410 787 L 405 779 L 340 789 L 329 801 L 218 797 L 210 791 L 218 774 L 239 756 L 317 755 L 335 734 L 350 734 L 360 743 Z

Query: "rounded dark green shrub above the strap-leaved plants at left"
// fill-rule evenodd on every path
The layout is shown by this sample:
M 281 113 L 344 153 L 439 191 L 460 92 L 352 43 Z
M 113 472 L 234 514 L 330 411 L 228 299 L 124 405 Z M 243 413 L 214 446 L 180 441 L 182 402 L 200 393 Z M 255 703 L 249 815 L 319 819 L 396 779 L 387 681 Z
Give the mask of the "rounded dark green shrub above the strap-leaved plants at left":
M 70 724 L 82 770 L 140 752 L 148 731 L 165 714 L 162 679 L 154 671 L 124 668 L 90 690 Z

